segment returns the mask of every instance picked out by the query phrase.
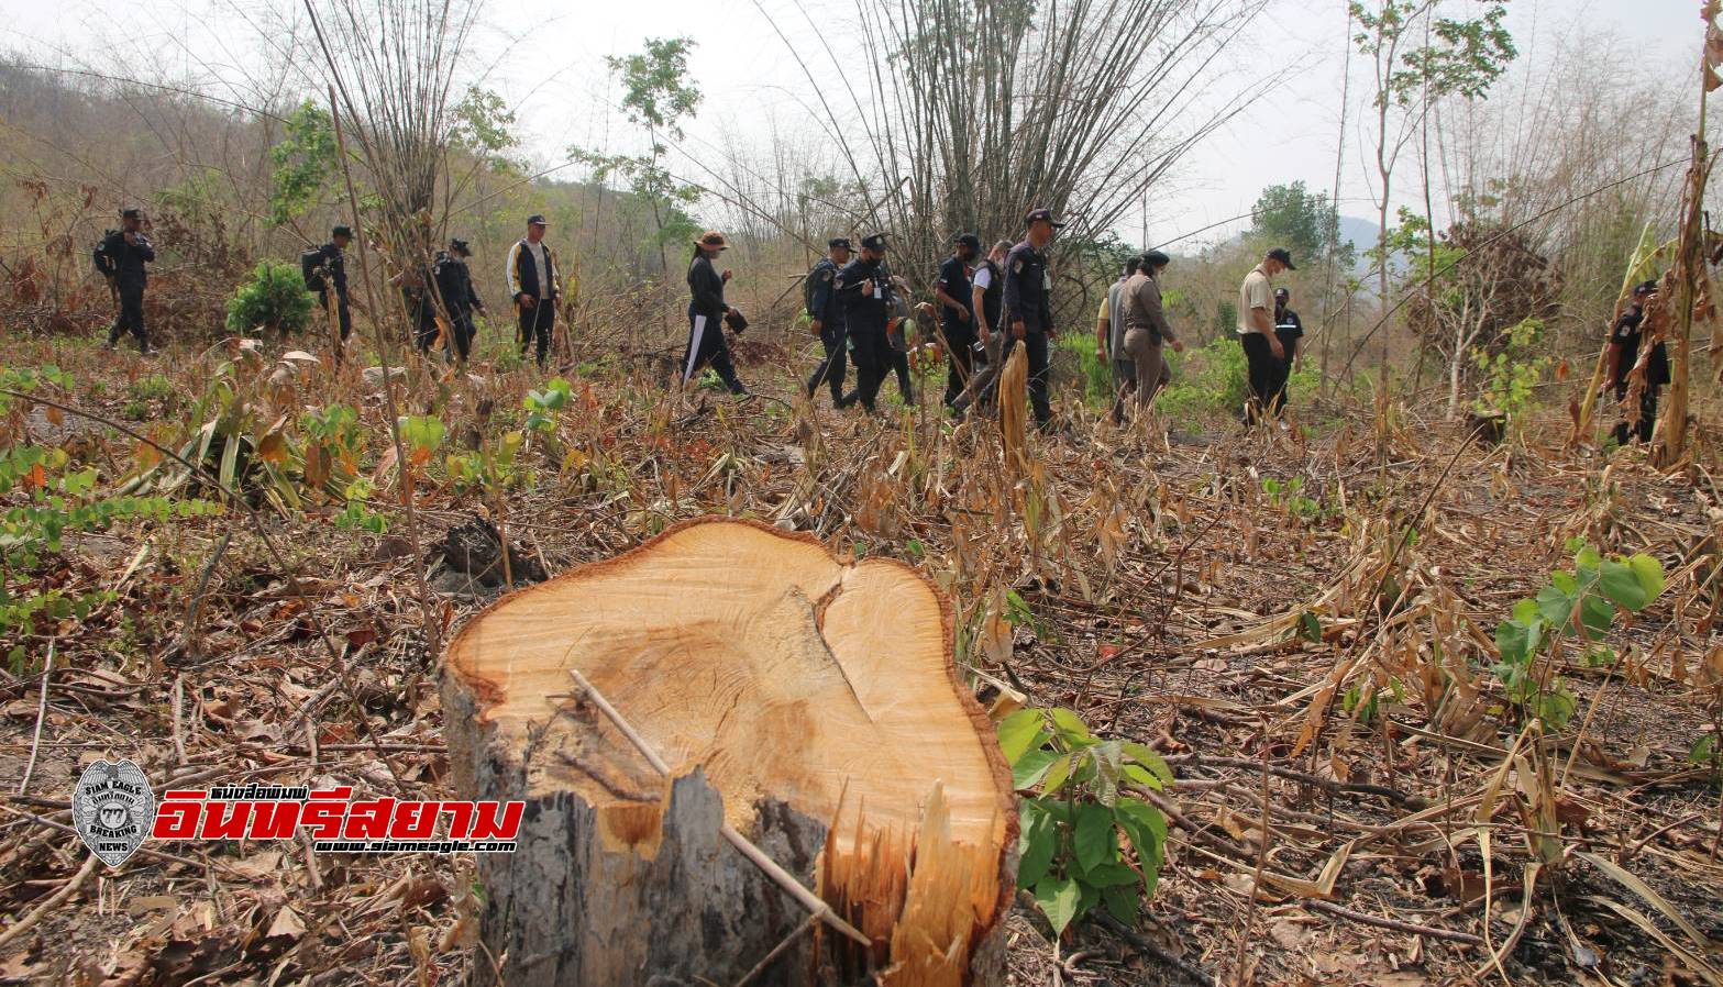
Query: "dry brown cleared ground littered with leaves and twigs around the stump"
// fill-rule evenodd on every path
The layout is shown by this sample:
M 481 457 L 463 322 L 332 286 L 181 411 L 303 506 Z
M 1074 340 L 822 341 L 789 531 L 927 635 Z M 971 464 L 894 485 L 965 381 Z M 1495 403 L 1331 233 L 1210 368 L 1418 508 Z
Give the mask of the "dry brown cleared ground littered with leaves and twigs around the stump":
M 115 596 L 38 627 L 33 646 L 52 639 L 55 655 L 45 705 L 40 661 L 0 675 L 0 777 L 29 765 L 28 791 L 0 799 L 7 982 L 432 984 L 486 965 L 470 860 L 148 842 L 117 875 L 84 873 L 67 801 L 96 758 L 138 760 L 159 792 L 269 780 L 450 796 L 424 605 L 446 641 L 500 593 L 463 572 L 470 553 L 445 549 L 479 513 L 519 546 L 513 575 L 705 513 L 903 558 L 949 594 L 980 689 L 1008 684 L 1158 749 L 1177 773 L 1153 796 L 1172 837 L 1141 923 L 1098 909 L 1054 944 L 1020 904 L 1018 984 L 1718 982 L 1720 801 L 1711 767 L 1689 761 L 1723 687 L 1716 434 L 1699 434 L 1701 465 L 1664 475 L 1635 450 L 1563 451 L 1559 410 L 1490 444 L 1420 408 L 1303 398 L 1323 424 L 1301 436 L 1172 422 L 1170 441 L 1148 443 L 1061 393 L 1070 427 L 1029 439 L 1018 472 L 996 425 L 951 429 L 932 405 L 879 419 L 793 407 L 801 367 L 762 343 L 743 365 L 765 398 L 675 401 L 619 367 L 570 367 L 548 431 L 526 425 L 544 382 L 532 370 L 419 381 L 401 413 L 436 417 L 441 436 L 401 470 L 381 374 L 338 377 L 277 348 L 153 363 L 65 341 L 5 350 L 9 367 L 72 374 L 38 396 L 174 450 L 198 415 L 239 415 L 257 436 L 286 415 L 279 450 L 255 443 L 267 455 L 233 477 L 291 568 L 231 506 L 69 536 L 43 560 L 45 582 Z M 203 403 L 222 381 L 224 401 Z M 334 401 L 362 425 L 353 465 L 374 491 L 357 515 L 305 482 L 314 443 L 295 422 Z M 43 403 L 12 413 L 12 441 L 65 450 L 100 489 L 159 458 Z M 522 427 L 512 472 L 493 456 L 472 479 L 448 458 Z M 193 494 L 221 500 L 195 481 L 164 496 Z M 1489 672 L 1492 636 L 1577 541 L 1656 556 L 1666 589 L 1616 622 L 1616 661 L 1561 660 L 1577 710 L 1539 737 Z M 1552 785 L 1525 770 L 1527 744 L 1544 746 Z M 1528 866 L 1539 818 L 1558 822 L 1559 851 Z

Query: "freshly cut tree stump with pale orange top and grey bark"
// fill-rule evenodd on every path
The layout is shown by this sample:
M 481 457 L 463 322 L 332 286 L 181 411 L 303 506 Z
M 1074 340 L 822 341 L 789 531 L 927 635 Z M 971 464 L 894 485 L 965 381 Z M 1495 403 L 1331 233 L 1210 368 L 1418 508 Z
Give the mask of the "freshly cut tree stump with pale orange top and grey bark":
M 463 796 L 524 799 L 479 854 L 481 978 L 526 985 L 1001 984 L 1011 775 L 906 565 L 703 518 L 505 596 L 448 651 Z M 584 699 L 579 670 L 674 780 Z M 860 928 L 822 925 L 729 822 Z

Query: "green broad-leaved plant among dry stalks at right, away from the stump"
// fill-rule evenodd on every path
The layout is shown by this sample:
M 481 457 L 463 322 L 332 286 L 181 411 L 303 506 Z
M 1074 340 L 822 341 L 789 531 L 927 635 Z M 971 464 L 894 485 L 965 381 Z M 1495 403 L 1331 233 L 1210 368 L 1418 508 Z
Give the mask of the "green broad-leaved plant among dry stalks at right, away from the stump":
M 1649 555 L 1604 558 L 1590 544 L 1573 555 L 1571 570 L 1549 574 L 1549 584 L 1532 599 L 1515 603 L 1513 615 L 1496 627 L 1501 660 L 1490 670 L 1508 701 L 1546 727 L 1561 729 L 1573 718 L 1575 698 L 1554 663 L 1566 648 L 1582 648 L 1590 665 L 1614 660 L 1601 644 L 1618 611 L 1639 613 L 1663 593 L 1663 565 Z

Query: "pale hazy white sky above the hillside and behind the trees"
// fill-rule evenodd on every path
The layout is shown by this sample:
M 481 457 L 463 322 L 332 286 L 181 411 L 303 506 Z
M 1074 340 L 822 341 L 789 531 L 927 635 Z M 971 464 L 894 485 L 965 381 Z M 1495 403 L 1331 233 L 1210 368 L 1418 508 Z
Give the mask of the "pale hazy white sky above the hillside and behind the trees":
M 1535 71 L 1558 47 L 1592 38 L 1599 72 L 1633 64 L 1671 71 L 1692 64 L 1699 47 L 1697 0 L 1511 0 L 1509 29 L 1520 47 L 1516 72 Z M 565 12 L 557 12 L 558 9 Z M 76 5 L 0 0 L 9 38 L 29 60 L 109 71 L 121 76 L 243 72 L 258 50 L 265 7 L 252 0 L 91 0 Z M 277 10 L 298 10 L 283 5 Z M 648 36 L 689 34 L 698 41 L 693 76 L 705 91 L 686 148 L 713 153 L 725 143 L 763 146 L 775 133 L 812 133 L 812 90 L 777 22 L 793 43 L 812 38 L 810 24 L 839 22 L 848 3 L 794 0 L 620 0 L 574 5 L 544 0 L 488 0 L 476 48 L 493 64 L 486 84 L 517 105 L 527 153 L 539 164 L 563 160 L 563 148 L 620 145 L 625 122 L 613 112 L 615 90 L 603 57 L 627 53 Z M 276 19 L 281 14 L 274 16 Z M 538 19 L 538 22 L 534 22 Z M 1346 72 L 1344 0 L 1270 0 L 1227 67 L 1216 90 L 1246 86 L 1280 59 L 1287 79 L 1206 145 L 1184 158 L 1179 174 L 1151 193 L 1148 239 L 1177 234 L 1247 212 L 1263 186 L 1304 179 L 1334 186 Z M 1249 55 L 1249 57 L 1246 57 Z M 1260 55 L 1268 55 L 1263 59 Z M 829 64 L 824 55 L 817 64 Z M 1353 112 L 1342 158 L 1340 212 L 1370 217 L 1370 171 L 1358 109 L 1368 98 L 1359 59 L 1353 59 Z M 219 93 L 219 88 L 212 88 Z M 3 115 L 5 107 L 0 107 Z M 715 157 L 715 153 L 713 153 Z M 1406 165 L 1415 179 L 1416 164 Z M 696 167 L 679 171 L 701 177 Z M 570 177 L 579 172 L 565 172 Z M 1125 236 L 1142 234 L 1144 217 L 1129 217 Z M 1242 222 L 1204 234 L 1235 231 Z M 1187 241 L 1184 246 L 1191 246 Z

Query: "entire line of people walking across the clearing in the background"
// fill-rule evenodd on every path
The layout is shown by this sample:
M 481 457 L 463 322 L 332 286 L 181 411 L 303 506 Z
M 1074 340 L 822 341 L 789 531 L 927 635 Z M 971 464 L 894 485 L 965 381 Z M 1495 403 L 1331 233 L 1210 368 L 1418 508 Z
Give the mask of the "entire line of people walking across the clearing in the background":
M 939 264 L 932 301 L 917 307 L 930 315 L 939 351 L 944 353 L 944 405 L 955 419 L 961 419 L 972 407 L 992 403 L 999 370 L 1011 351 L 1022 346 L 1036 422 L 1046 429 L 1053 420 L 1048 393 L 1049 348 L 1058 327 L 1053 319 L 1048 248 L 1065 224 L 1048 208 L 1030 210 L 1023 224 L 1020 241 L 1001 239 L 986 255 L 977 234 L 955 236 L 951 255 Z M 544 243 L 548 227 L 544 215 L 529 215 L 524 236 L 508 248 L 505 262 L 508 295 L 515 307 L 515 341 L 522 360 L 532 355 L 539 367 L 550 358 L 562 301 L 557 253 Z M 339 327 L 343 346 L 353 326 L 346 277 L 346 248 L 351 239 L 351 227 L 336 226 L 327 243 L 302 255 L 305 284 L 315 291 L 331 326 Z M 724 298 L 731 272 L 720 270 L 717 262 L 725 250 L 729 241 L 717 231 L 694 241 L 687 267 L 687 345 L 677 376 L 684 382 L 694 381 L 710 367 L 731 393 L 746 394 L 725 339 L 725 329 L 739 334 L 748 326 L 741 310 Z M 467 265 L 470 255 L 467 241 L 455 238 L 426 270 L 408 269 L 391 279 L 414 324 L 417 346 L 426 353 L 441 346 L 450 360 L 462 363 L 472 351 L 474 313 L 486 313 Z M 896 374 L 905 401 L 913 403 L 903 334 L 911 312 L 908 286 L 891 272 L 886 257 L 884 233 L 862 238 L 860 250 L 853 248 L 849 238 L 836 236 L 827 243 L 827 255 L 808 272 L 803 300 L 810 329 L 824 348 L 824 357 L 805 384 L 810 400 L 827 388 L 834 407 L 860 405 L 872 412 L 882 384 Z M 141 208 L 121 210 L 121 229 L 103 236 L 93 260 L 110 284 L 117 308 L 107 348 L 115 348 L 119 338 L 129 332 L 141 353 L 152 353 L 143 296 L 148 284 L 146 265 L 155 260 L 155 246 L 146 236 Z M 1168 255 L 1160 250 L 1129 258 L 1118 281 L 1101 300 L 1096 357 L 1111 369 L 1115 422 L 1123 422 L 1127 412 L 1141 413 L 1151 405 L 1154 394 L 1170 382 L 1165 350 L 1184 350 L 1161 296 L 1168 264 Z M 1239 286 L 1235 327 L 1247 365 L 1242 419 L 1246 424 L 1277 422 L 1280 429 L 1287 429 L 1287 381 L 1304 336 L 1303 320 L 1291 307 L 1291 291 L 1273 284 L 1275 276 L 1284 270 L 1297 267 L 1292 255 L 1277 246 L 1246 274 Z M 1654 295 L 1656 281 L 1635 286 L 1630 305 L 1611 327 L 1606 388 L 1614 391 L 1618 401 L 1628 396 L 1628 369 L 1637 362 L 1640 324 Z M 851 365 L 855 389 L 846 391 Z M 1639 413 L 1632 415 L 1633 422 L 1616 427 L 1618 443 L 1651 439 L 1658 394 L 1668 379 L 1668 357 L 1663 343 L 1658 343 L 1647 360 Z

